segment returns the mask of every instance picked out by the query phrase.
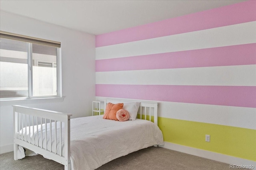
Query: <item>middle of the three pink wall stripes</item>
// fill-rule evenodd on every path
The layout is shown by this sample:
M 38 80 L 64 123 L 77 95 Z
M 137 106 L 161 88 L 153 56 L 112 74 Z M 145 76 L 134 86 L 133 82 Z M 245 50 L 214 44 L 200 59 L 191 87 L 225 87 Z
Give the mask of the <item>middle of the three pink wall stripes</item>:
M 96 72 L 256 64 L 256 43 L 96 60 Z M 143 64 L 142 64 L 143 63 Z

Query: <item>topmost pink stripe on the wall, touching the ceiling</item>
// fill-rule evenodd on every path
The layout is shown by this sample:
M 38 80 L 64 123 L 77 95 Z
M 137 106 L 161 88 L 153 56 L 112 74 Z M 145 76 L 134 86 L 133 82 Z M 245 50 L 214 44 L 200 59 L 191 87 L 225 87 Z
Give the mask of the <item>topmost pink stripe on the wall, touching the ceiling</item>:
M 96 47 L 255 21 L 255 6 L 256 1 L 250 0 L 138 27 L 96 35 Z

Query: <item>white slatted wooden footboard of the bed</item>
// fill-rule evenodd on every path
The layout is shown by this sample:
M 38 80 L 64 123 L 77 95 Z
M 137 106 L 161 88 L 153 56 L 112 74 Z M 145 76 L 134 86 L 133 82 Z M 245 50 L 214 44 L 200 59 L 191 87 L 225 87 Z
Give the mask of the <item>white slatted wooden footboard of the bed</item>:
M 72 114 L 24 106 L 13 106 L 13 114 L 14 160 L 18 159 L 18 145 L 20 145 L 63 164 L 65 170 L 70 170 Z M 62 144 L 63 137 L 64 144 Z

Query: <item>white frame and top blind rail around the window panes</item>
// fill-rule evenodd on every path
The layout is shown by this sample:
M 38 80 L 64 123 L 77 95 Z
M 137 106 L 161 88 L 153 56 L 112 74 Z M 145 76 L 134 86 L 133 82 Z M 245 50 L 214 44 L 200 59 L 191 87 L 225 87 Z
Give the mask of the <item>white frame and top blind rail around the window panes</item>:
M 10 35 L 10 38 L 8 36 Z M 35 37 L 29 37 L 25 35 L 19 35 L 14 33 L 9 33 L 5 31 L 0 31 L 0 37 L 5 39 L 14 39 L 18 41 L 24 41 L 27 43 L 27 55 L 28 55 L 28 97 L 14 97 L 14 98 L 0 98 L 1 106 L 12 105 L 12 104 L 32 104 L 32 103 L 40 103 L 47 102 L 47 99 L 51 101 L 63 101 L 62 98 L 62 72 L 61 72 L 61 47 L 60 42 L 51 41 L 46 39 L 39 39 Z M 23 39 L 23 37 L 25 37 Z M 50 43 L 49 43 L 50 42 Z M 57 79 L 57 93 L 56 95 L 50 96 L 33 96 L 33 59 L 32 59 L 32 44 L 37 43 L 41 45 L 50 45 L 56 48 L 56 79 Z M 52 45 L 56 43 L 55 45 Z M 28 102 L 26 102 L 26 100 Z M 20 102 L 19 102 L 20 101 Z M 34 101 L 34 102 L 32 102 Z

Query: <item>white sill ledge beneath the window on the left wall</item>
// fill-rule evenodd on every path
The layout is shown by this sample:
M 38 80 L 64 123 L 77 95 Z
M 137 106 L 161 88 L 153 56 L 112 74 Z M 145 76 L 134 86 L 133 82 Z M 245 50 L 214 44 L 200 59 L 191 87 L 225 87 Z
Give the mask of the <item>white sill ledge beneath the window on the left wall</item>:
M 0 101 L 0 106 L 63 102 L 63 100 L 64 97 L 4 100 Z

